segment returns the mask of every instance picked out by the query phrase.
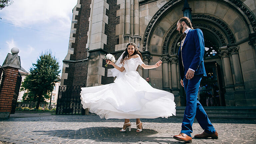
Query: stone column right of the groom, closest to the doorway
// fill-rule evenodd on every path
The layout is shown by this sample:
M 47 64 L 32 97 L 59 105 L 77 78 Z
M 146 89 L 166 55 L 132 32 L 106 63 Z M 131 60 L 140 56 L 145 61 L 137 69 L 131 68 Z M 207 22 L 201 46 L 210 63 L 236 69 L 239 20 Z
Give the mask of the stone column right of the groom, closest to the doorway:
M 233 83 L 233 77 L 231 72 L 231 65 L 230 65 L 230 59 L 229 59 L 229 52 L 227 50 L 227 47 L 221 47 L 220 50 L 220 56 L 223 59 L 223 70 L 225 72 L 226 76 L 226 83 L 225 83 L 225 100 L 226 100 L 226 106 L 235 106 L 234 102 L 234 83 Z

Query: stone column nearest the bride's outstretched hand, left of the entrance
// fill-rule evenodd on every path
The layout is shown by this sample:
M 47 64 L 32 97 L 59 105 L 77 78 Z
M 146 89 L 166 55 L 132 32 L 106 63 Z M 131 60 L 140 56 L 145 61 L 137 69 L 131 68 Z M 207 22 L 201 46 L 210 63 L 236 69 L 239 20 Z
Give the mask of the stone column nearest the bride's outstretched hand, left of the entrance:
M 169 75 L 168 75 L 168 62 L 169 62 L 169 56 L 163 56 L 160 57 L 160 60 L 163 62 L 162 67 L 163 67 L 163 90 L 165 91 L 170 91 L 169 88 Z

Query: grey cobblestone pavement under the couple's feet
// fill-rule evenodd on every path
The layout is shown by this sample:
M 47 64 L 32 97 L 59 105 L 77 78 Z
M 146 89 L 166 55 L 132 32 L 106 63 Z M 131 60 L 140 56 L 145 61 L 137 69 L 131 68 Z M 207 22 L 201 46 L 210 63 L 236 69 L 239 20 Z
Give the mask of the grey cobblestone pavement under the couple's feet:
M 96 115 L 52 115 L 29 118 L 10 118 L 0 121 L 0 143 L 16 144 L 183 144 L 173 139 L 179 134 L 182 118 L 141 119 L 143 131 L 136 132 L 135 119 L 131 132 L 121 133 L 124 120 L 100 119 Z M 256 120 L 211 120 L 219 139 L 192 139 L 193 144 L 255 144 Z M 203 130 L 195 121 L 192 137 Z

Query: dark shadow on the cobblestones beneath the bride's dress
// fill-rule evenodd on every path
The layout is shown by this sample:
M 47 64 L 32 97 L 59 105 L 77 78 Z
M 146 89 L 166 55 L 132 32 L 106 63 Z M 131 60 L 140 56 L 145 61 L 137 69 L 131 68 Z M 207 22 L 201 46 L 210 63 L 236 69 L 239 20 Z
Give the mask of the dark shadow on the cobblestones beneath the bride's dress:
M 181 144 L 182 142 L 176 141 L 170 137 L 152 137 L 150 135 L 157 134 L 158 132 L 152 129 L 143 129 L 142 132 L 137 133 L 135 128 L 131 131 L 119 132 L 120 128 L 117 127 L 87 127 L 79 130 L 50 130 L 50 131 L 32 131 L 36 135 L 48 135 L 53 137 L 61 137 L 67 139 L 90 139 L 99 142 L 165 142 Z

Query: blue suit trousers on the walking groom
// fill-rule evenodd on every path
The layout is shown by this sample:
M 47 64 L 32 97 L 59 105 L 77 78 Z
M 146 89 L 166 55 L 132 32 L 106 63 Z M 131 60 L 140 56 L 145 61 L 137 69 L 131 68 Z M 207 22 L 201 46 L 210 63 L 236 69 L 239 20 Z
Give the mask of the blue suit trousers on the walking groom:
M 185 76 L 186 77 L 186 76 Z M 187 105 L 184 112 L 184 118 L 181 126 L 181 132 L 191 137 L 193 132 L 192 124 L 195 117 L 202 129 L 209 134 L 215 133 L 215 129 L 210 122 L 203 106 L 197 100 L 197 94 L 200 86 L 202 75 L 194 75 L 190 80 L 184 78 L 183 84 L 186 92 Z

